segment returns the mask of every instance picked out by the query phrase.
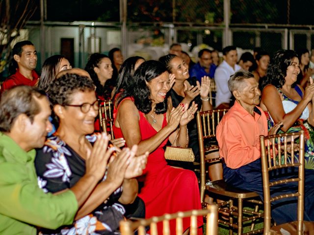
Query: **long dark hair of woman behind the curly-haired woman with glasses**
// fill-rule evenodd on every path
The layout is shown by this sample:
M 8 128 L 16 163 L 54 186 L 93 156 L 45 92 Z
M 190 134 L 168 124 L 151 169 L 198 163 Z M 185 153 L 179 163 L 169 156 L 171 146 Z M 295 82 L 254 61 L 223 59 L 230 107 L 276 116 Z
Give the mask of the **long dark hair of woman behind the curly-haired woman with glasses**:
M 50 90 L 50 87 L 55 80 L 55 76 L 59 72 L 58 69 L 63 58 L 65 58 L 64 55 L 52 55 L 45 60 L 38 82 L 38 87 L 40 89 L 45 92 Z

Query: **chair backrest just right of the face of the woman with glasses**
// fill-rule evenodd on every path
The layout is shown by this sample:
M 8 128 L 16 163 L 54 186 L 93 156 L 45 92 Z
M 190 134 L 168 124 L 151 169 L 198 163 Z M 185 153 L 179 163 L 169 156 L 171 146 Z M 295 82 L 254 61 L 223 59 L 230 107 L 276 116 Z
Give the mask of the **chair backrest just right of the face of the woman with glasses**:
M 113 139 L 113 102 L 111 99 L 99 100 L 99 122 L 100 130 L 110 134 Z

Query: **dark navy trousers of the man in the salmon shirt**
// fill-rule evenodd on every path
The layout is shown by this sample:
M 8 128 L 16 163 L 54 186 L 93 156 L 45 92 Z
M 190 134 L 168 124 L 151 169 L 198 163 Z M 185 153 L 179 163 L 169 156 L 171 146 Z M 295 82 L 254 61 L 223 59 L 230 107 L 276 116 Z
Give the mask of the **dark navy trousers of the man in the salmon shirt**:
M 226 183 L 236 188 L 254 191 L 258 193 L 263 200 L 261 159 L 243 165 L 237 169 L 229 168 L 224 163 L 223 174 Z M 291 167 L 288 170 L 274 170 L 269 174 L 269 181 L 286 179 L 287 177 L 294 178 L 297 174 L 296 167 Z M 271 187 L 270 190 L 271 196 L 276 196 L 282 192 L 295 192 L 297 190 L 297 182 L 274 186 Z M 304 191 L 304 220 L 314 221 L 314 170 L 305 169 Z M 296 221 L 297 199 L 286 198 L 276 200 L 272 203 L 271 215 L 277 224 Z

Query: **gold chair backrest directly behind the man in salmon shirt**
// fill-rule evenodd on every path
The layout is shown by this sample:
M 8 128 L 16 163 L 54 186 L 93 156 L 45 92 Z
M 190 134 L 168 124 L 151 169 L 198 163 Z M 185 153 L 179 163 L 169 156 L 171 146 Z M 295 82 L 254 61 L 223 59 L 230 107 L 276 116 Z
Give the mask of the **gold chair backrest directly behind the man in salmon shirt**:
M 218 150 L 219 147 L 216 141 L 216 127 L 221 118 L 228 112 L 228 110 L 229 109 L 208 110 L 203 112 L 197 112 L 196 115 L 198 141 L 200 146 L 201 202 L 204 201 L 206 184 L 205 153 Z M 207 146 L 205 146 L 204 140 L 208 140 Z M 215 160 L 217 161 L 217 159 L 212 159 L 210 162 L 213 162 Z

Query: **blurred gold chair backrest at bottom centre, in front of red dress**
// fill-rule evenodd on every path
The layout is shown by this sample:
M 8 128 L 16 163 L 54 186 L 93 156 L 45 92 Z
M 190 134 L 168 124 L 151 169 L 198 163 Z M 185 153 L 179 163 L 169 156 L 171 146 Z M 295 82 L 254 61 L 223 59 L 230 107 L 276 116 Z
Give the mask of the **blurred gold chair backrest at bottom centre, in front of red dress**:
M 146 235 L 145 227 L 149 226 L 150 234 L 157 235 L 157 223 L 162 223 L 162 235 L 170 234 L 169 221 L 176 220 L 176 235 L 183 235 L 183 218 L 190 217 L 190 234 L 197 235 L 197 216 L 207 216 L 206 235 L 218 234 L 218 209 L 216 205 L 208 205 L 207 209 L 177 212 L 173 214 L 164 214 L 154 216 L 149 219 L 140 219 L 137 221 L 121 221 L 121 235 L 133 235 L 138 231 L 138 235 Z

